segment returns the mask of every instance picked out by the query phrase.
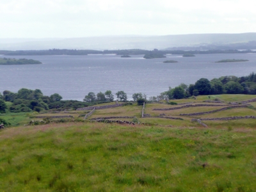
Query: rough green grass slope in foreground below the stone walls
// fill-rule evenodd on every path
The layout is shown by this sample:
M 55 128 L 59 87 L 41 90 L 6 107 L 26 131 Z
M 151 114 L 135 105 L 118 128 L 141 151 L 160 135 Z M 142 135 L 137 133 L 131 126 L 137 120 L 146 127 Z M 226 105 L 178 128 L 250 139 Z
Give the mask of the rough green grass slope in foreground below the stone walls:
M 0 191 L 253 191 L 255 129 L 49 124 L 0 131 Z

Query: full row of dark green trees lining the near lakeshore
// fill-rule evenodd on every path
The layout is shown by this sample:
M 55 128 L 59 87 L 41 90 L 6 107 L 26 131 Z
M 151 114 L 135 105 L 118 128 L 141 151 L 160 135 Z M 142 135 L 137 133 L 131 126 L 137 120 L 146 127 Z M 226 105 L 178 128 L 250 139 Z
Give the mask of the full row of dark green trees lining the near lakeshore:
M 209 81 L 206 78 L 201 78 L 195 84 L 186 85 L 181 83 L 175 88 L 170 88 L 157 95 L 149 97 L 142 93 L 132 94 L 132 99 L 139 105 L 143 102 L 153 102 L 163 99 L 184 99 L 197 95 L 220 95 L 220 94 L 251 94 L 256 95 L 256 74 L 252 72 L 249 76 L 223 76 L 214 78 Z M 116 99 L 122 102 L 127 102 L 127 93 L 118 91 L 115 93 Z M 17 93 L 5 90 L 3 95 L 0 93 L 0 113 L 4 113 L 6 109 L 10 112 L 30 112 L 44 111 L 48 109 L 77 109 L 94 104 L 104 102 L 113 102 L 114 95 L 111 90 L 107 90 L 97 94 L 89 92 L 84 96 L 83 102 L 77 100 L 61 100 L 62 97 L 58 93 L 50 96 L 43 95 L 41 90 L 29 90 L 21 88 Z M 6 102 L 10 102 L 6 106 Z

